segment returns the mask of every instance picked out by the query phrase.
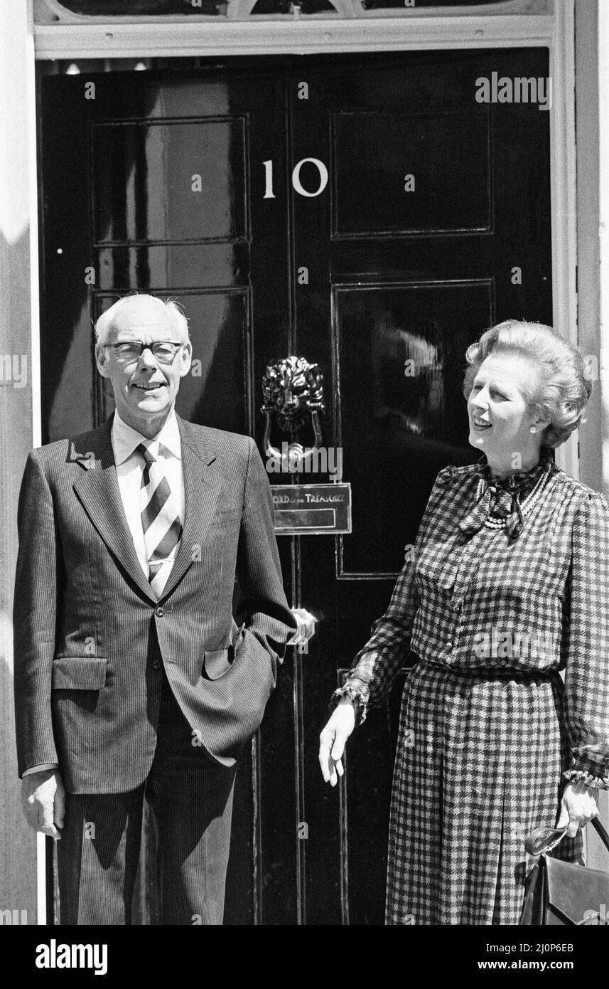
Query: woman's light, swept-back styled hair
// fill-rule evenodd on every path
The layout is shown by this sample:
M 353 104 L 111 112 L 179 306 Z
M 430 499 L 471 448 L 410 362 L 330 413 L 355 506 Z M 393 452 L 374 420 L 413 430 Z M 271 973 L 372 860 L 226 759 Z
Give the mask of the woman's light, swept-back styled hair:
M 540 418 L 550 419 L 544 432 L 544 444 L 558 447 L 579 425 L 581 415 L 592 394 L 592 383 L 585 376 L 583 355 L 552 326 L 541 322 L 505 319 L 487 329 L 476 343 L 467 348 L 468 368 L 463 394 L 469 399 L 474 378 L 481 364 L 491 354 L 514 354 L 537 364 L 540 386 L 536 395 L 521 388 L 522 395 Z

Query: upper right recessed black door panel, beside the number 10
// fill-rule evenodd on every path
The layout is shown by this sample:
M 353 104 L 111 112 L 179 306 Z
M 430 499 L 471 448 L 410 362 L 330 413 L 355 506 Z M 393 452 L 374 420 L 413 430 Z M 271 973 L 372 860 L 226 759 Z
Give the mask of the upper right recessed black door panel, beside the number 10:
M 341 114 L 333 130 L 335 232 L 490 227 L 486 113 Z

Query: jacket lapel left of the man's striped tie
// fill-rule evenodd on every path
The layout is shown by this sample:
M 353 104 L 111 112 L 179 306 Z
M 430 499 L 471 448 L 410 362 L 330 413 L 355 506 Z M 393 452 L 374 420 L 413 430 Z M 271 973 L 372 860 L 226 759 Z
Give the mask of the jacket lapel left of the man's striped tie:
M 112 416 L 104 425 L 73 443 L 74 459 L 82 474 L 74 491 L 119 567 L 147 597 L 156 595 L 140 566 L 118 489 L 111 438 Z

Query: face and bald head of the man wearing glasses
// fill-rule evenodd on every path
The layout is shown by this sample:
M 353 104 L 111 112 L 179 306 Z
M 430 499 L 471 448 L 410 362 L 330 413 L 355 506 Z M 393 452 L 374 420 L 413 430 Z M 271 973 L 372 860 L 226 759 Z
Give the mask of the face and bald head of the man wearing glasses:
M 171 363 L 163 363 L 151 350 L 135 357 L 107 346 L 160 341 L 181 344 Z M 125 303 L 97 344 L 96 357 L 100 374 L 112 382 L 120 417 L 144 435 L 158 432 L 173 408 L 180 379 L 189 373 L 191 358 L 187 333 L 174 323 L 163 303 L 151 296 L 134 296 Z

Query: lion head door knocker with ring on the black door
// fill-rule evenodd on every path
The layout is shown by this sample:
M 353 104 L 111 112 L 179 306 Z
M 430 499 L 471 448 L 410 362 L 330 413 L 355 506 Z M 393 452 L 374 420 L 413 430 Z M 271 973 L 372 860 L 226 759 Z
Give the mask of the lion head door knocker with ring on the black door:
M 307 469 L 322 445 L 320 413 L 324 411 L 324 378 L 318 364 L 304 357 L 284 357 L 268 364 L 263 376 L 262 411 L 266 414 L 265 453 L 281 471 L 295 474 Z M 273 419 L 289 439 L 281 449 L 271 441 Z M 305 447 L 295 437 L 309 427 L 313 446 Z

